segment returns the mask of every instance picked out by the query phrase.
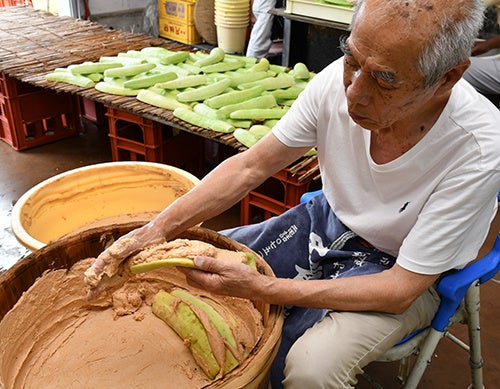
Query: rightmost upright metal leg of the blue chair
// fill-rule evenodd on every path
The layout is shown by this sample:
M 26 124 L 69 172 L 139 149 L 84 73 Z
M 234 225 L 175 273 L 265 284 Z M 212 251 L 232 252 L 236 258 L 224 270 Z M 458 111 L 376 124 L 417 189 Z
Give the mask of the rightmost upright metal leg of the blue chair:
M 483 389 L 483 358 L 481 356 L 481 326 L 479 324 L 479 283 L 471 285 L 465 295 L 465 309 L 469 330 L 469 364 L 471 370 L 471 389 Z

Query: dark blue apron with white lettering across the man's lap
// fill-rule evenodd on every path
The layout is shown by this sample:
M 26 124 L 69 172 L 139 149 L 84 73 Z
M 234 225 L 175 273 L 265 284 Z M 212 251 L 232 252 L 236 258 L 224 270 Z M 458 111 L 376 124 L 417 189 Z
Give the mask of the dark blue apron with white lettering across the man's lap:
M 396 259 L 346 228 L 323 194 L 261 223 L 221 231 L 257 252 L 276 277 L 301 280 L 333 279 L 377 273 Z M 282 388 L 285 357 L 327 309 L 285 307 L 282 340 L 271 367 L 271 384 Z

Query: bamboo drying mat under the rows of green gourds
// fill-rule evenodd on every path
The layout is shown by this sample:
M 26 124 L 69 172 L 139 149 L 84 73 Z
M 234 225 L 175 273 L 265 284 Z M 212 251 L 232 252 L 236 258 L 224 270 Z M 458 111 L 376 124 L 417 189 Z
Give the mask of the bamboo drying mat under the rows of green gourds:
M 80 88 L 45 80 L 45 75 L 57 67 L 97 61 L 102 56 L 117 55 L 147 46 L 160 46 L 173 51 L 195 50 L 192 46 L 168 39 L 110 30 L 95 22 L 56 16 L 30 7 L 0 7 L 1 73 L 43 88 L 78 94 L 104 105 L 217 141 L 238 151 L 246 150 L 232 134 L 187 124 L 175 118 L 172 111 L 142 103 L 135 97 L 109 95 L 95 88 Z M 307 170 L 309 166 L 305 167 Z M 310 167 L 317 169 L 314 163 Z

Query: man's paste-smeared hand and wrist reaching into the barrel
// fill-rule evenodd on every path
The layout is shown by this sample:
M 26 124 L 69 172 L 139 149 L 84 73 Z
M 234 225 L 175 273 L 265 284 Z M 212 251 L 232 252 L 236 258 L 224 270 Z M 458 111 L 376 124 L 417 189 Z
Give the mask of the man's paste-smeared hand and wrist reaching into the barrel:
M 85 271 L 85 283 L 90 287 L 88 298 L 95 299 L 104 290 L 126 280 L 121 265 L 127 257 L 147 246 L 164 241 L 164 236 L 152 223 L 120 237 L 99 254 L 92 266 Z

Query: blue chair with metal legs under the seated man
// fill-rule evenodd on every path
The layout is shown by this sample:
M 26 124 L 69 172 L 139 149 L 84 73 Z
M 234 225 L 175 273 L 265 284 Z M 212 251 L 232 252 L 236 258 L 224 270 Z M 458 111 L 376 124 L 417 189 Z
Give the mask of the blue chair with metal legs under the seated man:
M 320 193 L 321 190 L 307 192 L 300 202 L 307 202 Z M 498 200 L 500 201 L 500 191 Z M 497 213 L 496 219 L 499 215 L 500 212 Z M 492 228 L 498 229 L 496 221 L 492 223 Z M 500 234 L 498 230 L 491 232 L 495 234 L 496 240 L 493 248 L 486 255 L 439 280 L 437 291 L 441 297 L 441 303 L 431 325 L 405 337 L 378 359 L 380 362 L 400 362 L 398 379 L 405 389 L 418 387 L 425 369 L 431 363 L 439 341 L 445 336 L 469 353 L 472 381 L 469 388 L 483 389 L 479 287 L 500 270 Z M 449 332 L 449 329 L 457 323 L 467 324 L 469 344 Z M 417 355 L 417 358 L 413 364 L 410 364 L 412 355 Z M 367 374 L 363 375 L 373 386 L 381 388 L 381 385 Z

